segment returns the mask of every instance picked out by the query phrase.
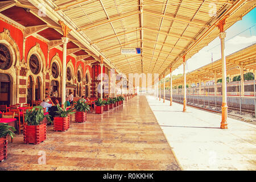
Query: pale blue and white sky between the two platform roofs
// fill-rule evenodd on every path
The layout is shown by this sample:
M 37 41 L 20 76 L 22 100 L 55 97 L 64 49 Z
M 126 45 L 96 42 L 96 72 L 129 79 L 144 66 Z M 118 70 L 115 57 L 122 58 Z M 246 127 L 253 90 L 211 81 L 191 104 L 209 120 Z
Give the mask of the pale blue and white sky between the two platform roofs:
M 242 20 L 236 22 L 226 30 L 225 55 L 239 51 L 256 43 L 256 8 L 251 10 Z M 221 58 L 220 39 L 217 37 L 208 46 L 187 60 L 186 72 L 191 72 Z M 183 65 L 172 72 L 173 75 L 183 74 Z M 170 77 L 170 74 L 166 77 Z

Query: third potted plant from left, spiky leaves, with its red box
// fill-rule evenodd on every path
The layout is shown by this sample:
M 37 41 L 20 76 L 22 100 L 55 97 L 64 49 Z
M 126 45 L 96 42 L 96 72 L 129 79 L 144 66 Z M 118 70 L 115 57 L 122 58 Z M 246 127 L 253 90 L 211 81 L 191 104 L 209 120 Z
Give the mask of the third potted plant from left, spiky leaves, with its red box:
M 66 131 L 69 129 L 70 118 L 68 114 L 74 114 L 71 109 L 67 109 L 67 101 L 64 103 L 63 108 L 57 104 L 57 117 L 53 118 L 54 131 Z

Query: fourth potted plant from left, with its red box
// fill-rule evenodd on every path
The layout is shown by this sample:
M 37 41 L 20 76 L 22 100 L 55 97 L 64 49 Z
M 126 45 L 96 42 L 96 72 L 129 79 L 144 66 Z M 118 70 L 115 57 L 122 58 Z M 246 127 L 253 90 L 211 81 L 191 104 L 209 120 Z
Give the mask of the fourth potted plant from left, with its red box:
M 76 110 L 75 121 L 83 123 L 86 121 L 86 112 L 90 110 L 90 106 L 81 100 L 75 102 L 74 109 Z

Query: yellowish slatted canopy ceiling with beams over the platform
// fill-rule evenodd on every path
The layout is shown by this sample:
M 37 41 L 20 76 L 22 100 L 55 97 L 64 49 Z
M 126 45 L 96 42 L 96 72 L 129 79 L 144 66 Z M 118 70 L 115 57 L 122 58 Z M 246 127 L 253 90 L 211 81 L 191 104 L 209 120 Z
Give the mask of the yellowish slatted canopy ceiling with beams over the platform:
M 125 73 L 164 75 L 179 67 L 215 39 L 217 23 L 228 15 L 224 30 L 255 7 L 254 0 L 18 0 L 15 6 L 31 7 L 46 2 L 51 18 L 40 19 L 57 27 L 65 20 L 77 42 L 87 41 L 91 55 Z M 18 3 L 18 5 L 17 5 Z M 214 3 L 214 4 L 213 4 Z M 216 15 L 214 8 L 216 7 Z M 54 19 L 54 20 L 53 20 Z M 55 30 L 58 31 L 56 28 Z M 60 32 L 60 31 L 59 31 Z M 75 39 L 75 38 L 72 38 Z M 71 40 L 72 40 L 71 39 Z M 75 42 L 76 43 L 76 42 Z M 79 46 L 82 47 L 82 46 Z M 121 48 L 141 47 L 141 55 L 122 55 Z M 89 52 L 87 52 L 89 53 Z M 95 57 L 95 56 L 94 56 Z

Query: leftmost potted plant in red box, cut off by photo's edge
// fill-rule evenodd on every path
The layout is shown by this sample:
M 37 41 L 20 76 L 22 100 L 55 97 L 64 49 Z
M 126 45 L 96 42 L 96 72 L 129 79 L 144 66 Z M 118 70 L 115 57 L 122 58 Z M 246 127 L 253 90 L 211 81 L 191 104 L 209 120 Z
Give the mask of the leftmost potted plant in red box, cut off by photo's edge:
M 7 159 L 7 135 L 13 138 L 15 136 L 14 131 L 16 131 L 15 128 L 9 126 L 8 123 L 0 123 L 0 162 Z

